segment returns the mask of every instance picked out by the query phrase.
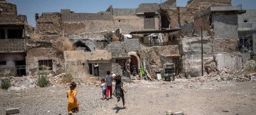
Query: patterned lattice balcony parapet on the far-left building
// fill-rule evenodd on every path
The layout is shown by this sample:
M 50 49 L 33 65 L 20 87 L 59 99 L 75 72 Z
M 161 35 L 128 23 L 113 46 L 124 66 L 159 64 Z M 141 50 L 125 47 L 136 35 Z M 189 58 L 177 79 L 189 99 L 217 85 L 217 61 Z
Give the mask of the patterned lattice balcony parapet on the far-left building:
M 0 53 L 26 52 L 26 39 L 0 39 Z

